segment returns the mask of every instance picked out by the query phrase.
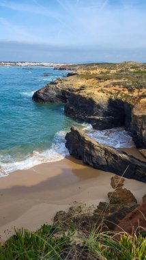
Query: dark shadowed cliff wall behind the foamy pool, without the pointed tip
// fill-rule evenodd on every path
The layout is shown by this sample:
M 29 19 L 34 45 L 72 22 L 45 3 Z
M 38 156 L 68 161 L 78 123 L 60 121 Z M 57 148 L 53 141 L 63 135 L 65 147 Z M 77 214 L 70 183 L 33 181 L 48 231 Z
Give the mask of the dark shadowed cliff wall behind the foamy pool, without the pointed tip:
M 124 125 L 123 102 L 107 100 L 104 95 L 100 101 L 93 97 L 71 92 L 65 104 L 65 114 L 83 122 L 89 122 L 94 129 L 110 129 Z

